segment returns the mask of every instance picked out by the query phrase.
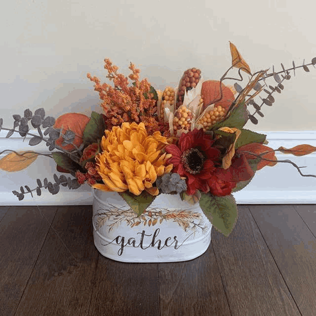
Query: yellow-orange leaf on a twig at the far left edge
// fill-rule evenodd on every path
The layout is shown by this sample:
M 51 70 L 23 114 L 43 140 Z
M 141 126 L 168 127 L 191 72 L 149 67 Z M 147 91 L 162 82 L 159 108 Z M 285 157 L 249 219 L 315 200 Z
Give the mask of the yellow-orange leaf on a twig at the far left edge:
M 39 154 L 35 152 L 10 153 L 0 159 L 0 169 L 7 172 L 20 171 L 33 163 Z

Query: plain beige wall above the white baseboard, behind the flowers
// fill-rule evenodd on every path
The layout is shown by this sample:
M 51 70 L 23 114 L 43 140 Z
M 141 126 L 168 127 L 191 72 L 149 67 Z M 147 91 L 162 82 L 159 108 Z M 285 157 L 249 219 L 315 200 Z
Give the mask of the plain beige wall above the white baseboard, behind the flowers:
M 43 107 L 57 117 L 100 111 L 86 73 L 104 78 L 108 57 L 125 73 L 134 62 L 159 89 L 198 67 L 219 79 L 230 66 L 229 40 L 253 71 L 316 57 L 310 0 L 13 0 L 0 12 L 0 117 Z M 4 9 L 5 7 L 5 9 Z M 255 130 L 316 130 L 316 69 L 297 70 Z M 273 82 L 273 80 L 271 81 Z

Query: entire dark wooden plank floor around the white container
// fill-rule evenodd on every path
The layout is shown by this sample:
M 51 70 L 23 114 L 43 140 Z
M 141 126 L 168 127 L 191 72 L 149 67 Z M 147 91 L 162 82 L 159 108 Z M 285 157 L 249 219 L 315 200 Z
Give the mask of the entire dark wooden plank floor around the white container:
M 315 316 L 316 205 L 239 205 L 178 263 L 101 256 L 91 206 L 0 206 L 1 316 Z

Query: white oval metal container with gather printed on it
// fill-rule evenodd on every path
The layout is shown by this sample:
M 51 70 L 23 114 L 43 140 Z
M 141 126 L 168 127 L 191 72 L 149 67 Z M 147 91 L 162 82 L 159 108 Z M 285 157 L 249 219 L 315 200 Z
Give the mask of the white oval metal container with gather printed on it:
M 160 194 L 138 217 L 116 192 L 93 192 L 93 237 L 98 251 L 121 262 L 175 262 L 208 248 L 212 224 L 199 204 Z

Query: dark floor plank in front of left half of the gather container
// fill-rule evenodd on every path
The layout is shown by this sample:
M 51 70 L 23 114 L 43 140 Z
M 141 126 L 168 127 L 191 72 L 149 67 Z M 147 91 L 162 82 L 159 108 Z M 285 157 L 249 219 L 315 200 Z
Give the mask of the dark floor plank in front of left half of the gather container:
M 89 316 L 158 316 L 157 263 L 124 263 L 99 254 Z

